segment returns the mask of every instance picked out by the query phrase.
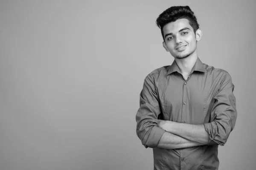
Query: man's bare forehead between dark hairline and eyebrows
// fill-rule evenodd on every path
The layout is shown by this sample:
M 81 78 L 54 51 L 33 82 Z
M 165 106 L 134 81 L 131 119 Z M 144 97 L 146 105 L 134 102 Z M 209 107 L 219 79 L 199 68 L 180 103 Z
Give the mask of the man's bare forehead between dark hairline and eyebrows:
M 180 29 L 185 27 L 189 28 L 190 30 L 193 30 L 192 26 L 189 25 L 189 20 L 182 18 L 182 19 L 176 20 L 175 22 L 166 24 L 163 27 L 163 34 L 164 35 L 168 33 L 176 34 L 180 31 Z

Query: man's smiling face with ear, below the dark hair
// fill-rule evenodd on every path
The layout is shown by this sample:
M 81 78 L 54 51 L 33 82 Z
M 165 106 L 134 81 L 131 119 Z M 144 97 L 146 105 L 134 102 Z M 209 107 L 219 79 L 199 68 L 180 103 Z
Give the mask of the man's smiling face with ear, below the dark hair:
M 166 24 L 163 27 L 163 35 L 166 51 L 177 59 L 183 59 L 196 51 L 197 41 L 201 39 L 201 29 L 194 33 L 189 20 L 183 18 Z

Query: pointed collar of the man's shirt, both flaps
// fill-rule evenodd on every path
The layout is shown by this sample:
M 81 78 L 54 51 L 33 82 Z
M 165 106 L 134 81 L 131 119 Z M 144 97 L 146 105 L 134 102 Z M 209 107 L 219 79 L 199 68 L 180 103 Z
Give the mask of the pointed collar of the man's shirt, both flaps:
M 199 58 L 197 58 L 195 65 L 191 70 L 191 73 L 193 73 L 194 71 L 201 71 L 205 73 L 207 72 L 206 69 L 204 68 L 204 64 L 201 62 Z M 172 74 L 173 72 L 181 73 L 180 68 L 178 67 L 175 60 L 172 62 L 172 65 L 168 67 L 167 75 Z

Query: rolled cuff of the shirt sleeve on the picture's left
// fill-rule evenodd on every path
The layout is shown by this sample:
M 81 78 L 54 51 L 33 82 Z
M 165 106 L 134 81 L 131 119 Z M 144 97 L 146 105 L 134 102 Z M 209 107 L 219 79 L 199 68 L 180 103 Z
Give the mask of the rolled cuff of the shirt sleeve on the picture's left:
M 146 142 L 146 148 L 147 147 L 157 147 L 157 144 L 160 140 L 160 138 L 162 137 L 163 133 L 165 132 L 165 130 L 163 130 L 162 128 L 158 127 L 158 126 L 154 126 L 152 127 L 152 130 L 148 136 L 148 140 Z

